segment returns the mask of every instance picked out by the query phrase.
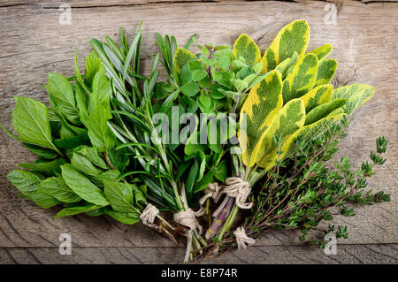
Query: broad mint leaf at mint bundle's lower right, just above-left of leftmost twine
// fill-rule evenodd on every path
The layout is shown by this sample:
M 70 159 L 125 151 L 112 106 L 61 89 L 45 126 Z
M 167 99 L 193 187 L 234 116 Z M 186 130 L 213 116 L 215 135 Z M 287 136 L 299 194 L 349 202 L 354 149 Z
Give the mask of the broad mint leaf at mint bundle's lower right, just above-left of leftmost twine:
M 133 187 L 118 181 L 103 181 L 104 194 L 113 210 L 119 212 L 135 212 Z

